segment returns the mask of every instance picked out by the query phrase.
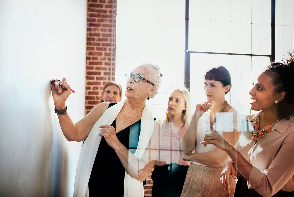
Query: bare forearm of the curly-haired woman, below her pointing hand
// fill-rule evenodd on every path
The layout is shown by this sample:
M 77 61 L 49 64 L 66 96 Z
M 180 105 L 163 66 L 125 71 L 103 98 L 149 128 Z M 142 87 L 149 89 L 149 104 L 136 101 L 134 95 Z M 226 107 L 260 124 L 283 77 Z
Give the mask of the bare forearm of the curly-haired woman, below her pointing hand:
M 238 150 L 236 150 L 235 147 L 233 147 L 231 144 L 230 144 L 230 147 L 228 148 L 228 150 L 226 150 L 226 152 L 228 153 L 228 155 L 232 159 L 233 163 L 235 164 L 235 166 L 238 169 L 238 171 L 240 172 L 240 174 L 242 174 L 244 179 L 249 181 L 249 176 L 250 176 L 250 172 L 253 168 L 253 165 L 249 161 L 247 161 L 243 157 L 243 155 Z

